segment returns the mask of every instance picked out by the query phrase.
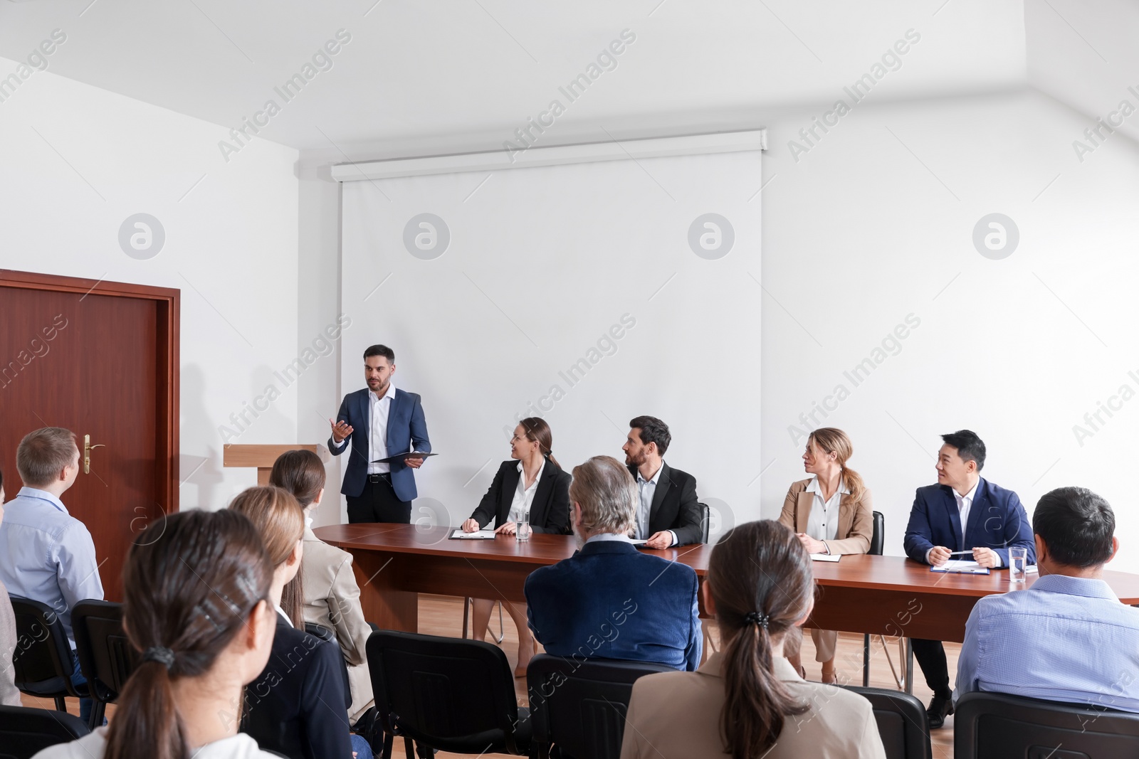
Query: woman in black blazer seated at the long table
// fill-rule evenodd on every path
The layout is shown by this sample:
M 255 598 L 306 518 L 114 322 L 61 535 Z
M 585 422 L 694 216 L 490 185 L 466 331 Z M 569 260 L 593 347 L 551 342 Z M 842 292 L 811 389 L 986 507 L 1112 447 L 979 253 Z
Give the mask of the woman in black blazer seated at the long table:
M 518 422 L 510 438 L 510 461 L 503 461 L 494 481 L 470 519 L 462 522 L 466 533 L 482 529 L 494 520 L 495 533 L 513 536 L 518 522 L 526 521 L 534 533 L 568 535 L 570 475 L 562 471 L 550 451 L 554 437 L 550 426 L 540 416 Z M 518 628 L 518 666 L 514 674 L 526 675 L 526 665 L 536 652 L 536 644 L 526 625 L 526 604 L 502 601 Z M 485 640 L 494 602 L 475 599 L 473 637 Z

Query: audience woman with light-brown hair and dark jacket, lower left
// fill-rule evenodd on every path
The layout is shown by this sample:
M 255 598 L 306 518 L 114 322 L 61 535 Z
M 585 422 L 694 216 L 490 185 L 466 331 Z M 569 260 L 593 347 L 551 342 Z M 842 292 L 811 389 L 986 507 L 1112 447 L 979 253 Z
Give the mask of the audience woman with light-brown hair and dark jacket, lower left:
M 243 490 L 229 508 L 261 534 L 273 567 L 269 601 L 277 610 L 272 655 L 246 692 L 241 731 L 293 759 L 352 759 L 341 652 L 304 632 L 301 593 L 292 599 L 285 593 L 301 570 L 304 510 L 292 493 L 273 486 Z

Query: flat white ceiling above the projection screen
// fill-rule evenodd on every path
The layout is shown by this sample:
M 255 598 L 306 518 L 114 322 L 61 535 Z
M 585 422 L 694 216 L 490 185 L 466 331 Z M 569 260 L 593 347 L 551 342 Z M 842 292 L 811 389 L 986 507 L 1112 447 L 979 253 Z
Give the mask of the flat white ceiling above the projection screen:
M 1077 0 L 1048 1 L 1077 14 Z M 353 158 L 448 137 L 494 148 L 555 98 L 566 112 L 550 143 L 587 127 L 762 126 L 843 97 L 910 28 L 920 42 L 875 99 L 1027 83 L 1021 0 L 0 0 L 0 56 L 23 60 L 55 28 L 56 74 L 224 126 L 273 99 L 260 137 Z M 333 68 L 286 104 L 273 88 L 341 28 L 351 42 Z M 637 39 L 617 67 L 570 102 L 558 86 L 625 28 Z M 1114 56 L 1129 39 L 1097 42 Z

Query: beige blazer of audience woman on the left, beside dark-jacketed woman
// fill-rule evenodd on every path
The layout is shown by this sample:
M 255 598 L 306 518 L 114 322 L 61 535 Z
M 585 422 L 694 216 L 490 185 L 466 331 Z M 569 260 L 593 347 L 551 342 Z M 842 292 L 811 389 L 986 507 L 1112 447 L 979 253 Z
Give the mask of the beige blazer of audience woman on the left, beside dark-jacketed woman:
M 304 530 L 304 621 L 316 622 L 336 633 L 349 663 L 352 703 L 349 716 L 354 723 L 372 706 L 371 676 L 364 645 L 371 627 L 360 607 L 360 586 L 352 574 L 352 554 L 328 545 L 311 529 Z

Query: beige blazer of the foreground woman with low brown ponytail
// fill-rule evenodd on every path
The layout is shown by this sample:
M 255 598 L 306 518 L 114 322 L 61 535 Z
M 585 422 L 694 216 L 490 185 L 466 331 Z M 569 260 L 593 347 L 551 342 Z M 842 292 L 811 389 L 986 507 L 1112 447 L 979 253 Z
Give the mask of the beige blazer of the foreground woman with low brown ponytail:
M 621 759 L 727 757 L 720 734 L 722 654 L 695 673 L 646 675 L 633 685 Z M 787 717 L 764 759 L 885 759 L 870 702 L 836 685 L 808 683 L 782 657 L 775 674 L 810 709 Z

